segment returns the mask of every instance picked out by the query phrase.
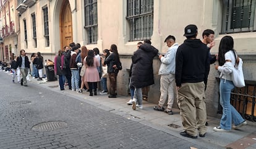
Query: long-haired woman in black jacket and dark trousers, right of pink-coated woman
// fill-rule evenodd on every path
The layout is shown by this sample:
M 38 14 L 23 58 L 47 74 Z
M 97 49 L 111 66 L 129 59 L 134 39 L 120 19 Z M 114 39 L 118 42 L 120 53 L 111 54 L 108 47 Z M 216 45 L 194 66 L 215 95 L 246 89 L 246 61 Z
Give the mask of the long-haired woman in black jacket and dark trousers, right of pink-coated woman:
M 116 77 L 119 72 L 116 64 L 120 62 L 119 54 L 116 45 L 111 45 L 110 51 L 112 52 L 104 61 L 108 65 L 108 77 L 110 82 L 109 98 L 116 98 Z

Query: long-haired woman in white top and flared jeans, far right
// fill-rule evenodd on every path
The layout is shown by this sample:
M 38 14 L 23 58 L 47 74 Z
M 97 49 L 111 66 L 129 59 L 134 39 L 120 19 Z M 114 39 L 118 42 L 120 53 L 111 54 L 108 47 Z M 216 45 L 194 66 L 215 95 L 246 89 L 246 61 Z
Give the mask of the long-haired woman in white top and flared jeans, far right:
M 223 115 L 221 117 L 220 126 L 214 127 L 216 132 L 229 132 L 234 123 L 233 129 L 237 129 L 247 124 L 241 114 L 230 104 L 231 90 L 234 89 L 232 80 L 232 70 L 228 67 L 223 67 L 226 62 L 232 62 L 235 66 L 237 59 L 234 48 L 234 40 L 231 36 L 224 36 L 220 41 L 218 62 L 215 69 L 221 72 L 220 74 L 220 104 L 223 107 Z

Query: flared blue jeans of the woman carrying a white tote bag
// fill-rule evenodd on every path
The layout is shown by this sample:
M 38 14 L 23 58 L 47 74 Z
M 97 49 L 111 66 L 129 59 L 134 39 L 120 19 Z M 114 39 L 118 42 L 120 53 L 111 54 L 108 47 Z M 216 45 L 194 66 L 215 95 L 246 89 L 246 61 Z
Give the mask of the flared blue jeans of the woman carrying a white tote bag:
M 231 90 L 234 84 L 232 81 L 221 79 L 220 81 L 220 104 L 223 108 L 223 115 L 220 121 L 220 127 L 224 130 L 231 130 L 231 125 L 241 124 L 244 119 L 239 114 L 234 106 L 230 104 Z

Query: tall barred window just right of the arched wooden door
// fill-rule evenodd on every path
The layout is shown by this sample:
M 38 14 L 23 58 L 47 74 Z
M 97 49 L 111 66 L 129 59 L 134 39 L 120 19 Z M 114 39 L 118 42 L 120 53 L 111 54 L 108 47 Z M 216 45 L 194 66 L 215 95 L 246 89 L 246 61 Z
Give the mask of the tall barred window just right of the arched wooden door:
M 98 40 L 98 13 L 97 0 L 85 0 L 85 30 L 88 44 Z

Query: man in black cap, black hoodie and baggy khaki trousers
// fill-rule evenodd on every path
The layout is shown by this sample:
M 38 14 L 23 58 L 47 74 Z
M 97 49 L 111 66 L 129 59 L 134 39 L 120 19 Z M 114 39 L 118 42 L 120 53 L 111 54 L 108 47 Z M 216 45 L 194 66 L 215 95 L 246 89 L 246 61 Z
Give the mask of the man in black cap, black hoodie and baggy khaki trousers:
M 197 39 L 197 26 L 187 25 L 187 40 L 179 46 L 176 53 L 177 103 L 181 109 L 184 137 L 205 137 L 207 132 L 207 112 L 205 106 L 205 83 L 210 69 L 207 45 Z

